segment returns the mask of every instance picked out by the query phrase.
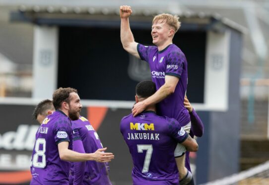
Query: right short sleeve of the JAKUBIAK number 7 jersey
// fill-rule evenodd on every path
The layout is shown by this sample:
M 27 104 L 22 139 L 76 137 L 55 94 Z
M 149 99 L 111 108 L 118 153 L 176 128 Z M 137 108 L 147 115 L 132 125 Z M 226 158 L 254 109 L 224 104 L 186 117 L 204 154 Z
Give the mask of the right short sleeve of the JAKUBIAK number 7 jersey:
M 184 142 L 189 134 L 185 132 L 184 128 L 182 128 L 179 122 L 175 119 L 167 119 L 168 121 L 168 130 L 169 134 L 172 138 L 174 138 L 178 143 Z

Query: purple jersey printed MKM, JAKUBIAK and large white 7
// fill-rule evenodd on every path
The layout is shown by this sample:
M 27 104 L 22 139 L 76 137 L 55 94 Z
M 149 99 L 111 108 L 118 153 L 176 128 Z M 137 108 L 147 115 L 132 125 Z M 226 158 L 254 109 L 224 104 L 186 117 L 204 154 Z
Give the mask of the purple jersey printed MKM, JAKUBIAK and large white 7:
M 120 129 L 133 158 L 134 185 L 179 184 L 174 151 L 188 133 L 177 120 L 144 111 L 124 117 Z

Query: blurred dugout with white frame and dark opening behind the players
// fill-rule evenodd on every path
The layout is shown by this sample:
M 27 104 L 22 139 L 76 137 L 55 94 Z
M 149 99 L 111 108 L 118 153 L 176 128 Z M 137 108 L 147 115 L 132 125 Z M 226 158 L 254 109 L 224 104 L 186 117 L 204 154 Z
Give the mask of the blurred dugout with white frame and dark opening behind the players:
M 118 110 L 132 107 L 135 85 L 150 79 L 150 71 L 146 63 L 137 61 L 122 48 L 117 12 L 117 8 L 53 6 L 23 6 L 11 12 L 11 21 L 34 24 L 33 98 L 48 98 L 58 87 L 73 87 L 84 106 Z M 167 11 L 137 8 L 130 18 L 137 42 L 151 44 L 152 15 L 162 12 Z M 239 169 L 239 78 L 245 29 L 204 12 L 179 16 L 182 26 L 174 43 L 187 57 L 187 95 L 205 127 L 198 140 L 196 159 L 196 181 L 200 184 Z M 118 128 L 119 122 L 112 124 Z M 109 125 L 100 126 L 99 132 L 109 133 L 101 137 L 103 141 L 120 134 L 114 133 L 117 129 L 111 131 Z M 118 146 L 117 140 L 122 138 L 114 138 L 117 139 L 106 146 L 121 151 L 124 146 Z M 119 165 L 123 163 L 119 159 L 125 159 L 125 155 L 128 154 L 119 153 L 111 166 L 112 181 L 130 181 L 131 171 Z

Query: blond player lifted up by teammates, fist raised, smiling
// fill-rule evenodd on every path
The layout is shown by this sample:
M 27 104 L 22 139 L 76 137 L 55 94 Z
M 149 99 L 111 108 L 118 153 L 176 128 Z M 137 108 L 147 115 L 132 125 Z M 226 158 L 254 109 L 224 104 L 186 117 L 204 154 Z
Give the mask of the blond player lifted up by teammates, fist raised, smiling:
M 158 104 L 158 114 L 175 118 L 189 132 L 191 120 L 184 107 L 184 96 L 187 90 L 188 64 L 184 53 L 173 44 L 173 37 L 180 28 L 179 17 L 171 14 L 159 14 L 153 18 L 151 27 L 152 43 L 156 46 L 143 46 L 135 42 L 130 29 L 129 16 L 131 6 L 120 6 L 121 41 L 130 54 L 146 61 L 151 70 L 152 81 L 157 92 L 147 99 L 135 104 L 132 109 L 136 116 L 149 105 Z M 191 173 L 185 168 L 185 151 L 182 145 L 175 150 L 180 180 L 193 184 Z M 183 184 L 183 183 L 182 183 Z

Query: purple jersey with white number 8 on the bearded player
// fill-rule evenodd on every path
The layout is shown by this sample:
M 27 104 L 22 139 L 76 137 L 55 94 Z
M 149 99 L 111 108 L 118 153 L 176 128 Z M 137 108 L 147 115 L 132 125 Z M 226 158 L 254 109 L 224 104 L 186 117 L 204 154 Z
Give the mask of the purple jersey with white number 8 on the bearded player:
M 60 159 L 58 144 L 69 142 L 72 149 L 71 120 L 62 111 L 47 116 L 36 133 L 32 154 L 31 185 L 68 185 L 69 162 Z

